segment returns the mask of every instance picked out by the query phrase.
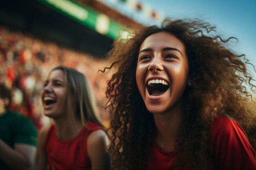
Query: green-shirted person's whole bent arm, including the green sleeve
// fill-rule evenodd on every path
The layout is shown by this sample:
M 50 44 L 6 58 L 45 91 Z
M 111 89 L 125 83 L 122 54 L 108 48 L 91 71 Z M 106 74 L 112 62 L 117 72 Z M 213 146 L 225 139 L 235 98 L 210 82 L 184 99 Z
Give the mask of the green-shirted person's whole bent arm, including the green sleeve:
M 0 159 L 14 170 L 32 169 L 37 145 L 37 130 L 34 124 L 27 117 L 14 113 L 7 123 L 11 130 L 13 147 L 0 140 Z

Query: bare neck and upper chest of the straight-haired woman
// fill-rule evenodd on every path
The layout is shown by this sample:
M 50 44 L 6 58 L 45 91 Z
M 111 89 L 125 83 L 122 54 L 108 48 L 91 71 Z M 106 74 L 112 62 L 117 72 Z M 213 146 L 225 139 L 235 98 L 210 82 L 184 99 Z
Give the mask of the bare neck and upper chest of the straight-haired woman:
M 72 119 L 69 119 L 72 120 Z M 74 138 L 83 128 L 80 120 L 67 121 L 66 119 L 54 120 L 56 126 L 56 136 L 59 140 L 69 140 Z

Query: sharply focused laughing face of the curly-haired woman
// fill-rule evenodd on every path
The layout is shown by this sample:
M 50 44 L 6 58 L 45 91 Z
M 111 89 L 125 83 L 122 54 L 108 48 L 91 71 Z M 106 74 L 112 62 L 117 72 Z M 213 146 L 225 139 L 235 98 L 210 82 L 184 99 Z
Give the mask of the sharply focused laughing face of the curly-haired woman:
M 152 34 L 141 44 L 136 81 L 150 113 L 166 113 L 181 106 L 188 73 L 185 46 L 171 33 Z

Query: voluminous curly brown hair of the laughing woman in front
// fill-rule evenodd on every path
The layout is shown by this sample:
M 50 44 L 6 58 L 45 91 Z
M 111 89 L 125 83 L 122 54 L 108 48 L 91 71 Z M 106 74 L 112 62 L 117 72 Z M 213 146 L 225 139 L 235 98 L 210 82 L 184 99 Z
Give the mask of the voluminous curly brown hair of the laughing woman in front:
M 186 47 L 193 84 L 186 87 L 183 95 L 185 111 L 177 137 L 175 167 L 184 168 L 185 161 L 191 169 L 207 169 L 211 160 L 209 129 L 217 112 L 227 113 L 238 121 L 256 149 L 256 104 L 252 100 L 256 86 L 247 70 L 249 65 L 254 66 L 245 55 L 229 49 L 230 40 L 236 38 L 221 38 L 216 27 L 201 20 L 167 18 L 160 26 L 141 28 L 127 40 L 117 39 L 108 53 L 112 65 L 103 72 L 116 68 L 106 91 L 109 99 L 106 106 L 112 110 L 109 147 L 112 169 L 146 168 L 155 124 L 137 88 L 135 73 L 142 42 L 161 31 L 175 35 Z

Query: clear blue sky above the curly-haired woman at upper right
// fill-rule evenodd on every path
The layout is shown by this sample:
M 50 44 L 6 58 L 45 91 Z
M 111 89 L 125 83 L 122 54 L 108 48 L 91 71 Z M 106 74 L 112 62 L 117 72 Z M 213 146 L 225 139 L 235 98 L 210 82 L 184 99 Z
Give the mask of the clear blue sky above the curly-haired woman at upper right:
M 256 66 L 256 0 L 140 0 L 169 17 L 203 19 L 224 37 L 234 36 L 234 50 Z M 255 73 L 254 73 L 255 74 Z

